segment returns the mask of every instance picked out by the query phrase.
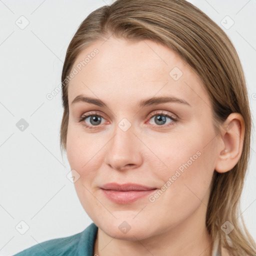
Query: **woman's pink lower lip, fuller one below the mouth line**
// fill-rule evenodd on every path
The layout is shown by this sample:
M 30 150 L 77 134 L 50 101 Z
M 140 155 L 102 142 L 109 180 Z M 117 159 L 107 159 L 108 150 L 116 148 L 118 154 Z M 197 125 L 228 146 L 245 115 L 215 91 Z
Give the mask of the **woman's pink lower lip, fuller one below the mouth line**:
M 130 191 L 116 191 L 116 190 L 105 190 L 102 189 L 103 193 L 105 194 L 105 196 L 110 199 L 113 202 L 116 203 L 120 203 L 120 204 L 126 204 L 126 203 L 130 203 L 133 201 L 138 200 L 141 197 L 144 197 L 150 193 L 152 193 L 153 191 L 156 190 L 155 189 L 151 189 L 151 190 L 141 190 L 141 191 L 135 191 L 135 190 L 130 190 Z

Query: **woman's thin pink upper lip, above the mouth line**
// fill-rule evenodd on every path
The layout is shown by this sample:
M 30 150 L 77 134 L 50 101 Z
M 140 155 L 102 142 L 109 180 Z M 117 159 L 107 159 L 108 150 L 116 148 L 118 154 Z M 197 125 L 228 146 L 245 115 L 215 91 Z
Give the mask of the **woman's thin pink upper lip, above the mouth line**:
M 118 184 L 118 183 L 107 183 L 101 186 L 102 189 L 106 190 L 116 190 L 116 191 L 143 191 L 143 190 L 151 190 L 155 189 L 156 187 L 145 186 L 136 183 L 125 183 L 125 184 Z

